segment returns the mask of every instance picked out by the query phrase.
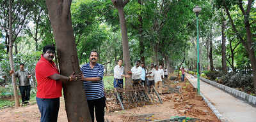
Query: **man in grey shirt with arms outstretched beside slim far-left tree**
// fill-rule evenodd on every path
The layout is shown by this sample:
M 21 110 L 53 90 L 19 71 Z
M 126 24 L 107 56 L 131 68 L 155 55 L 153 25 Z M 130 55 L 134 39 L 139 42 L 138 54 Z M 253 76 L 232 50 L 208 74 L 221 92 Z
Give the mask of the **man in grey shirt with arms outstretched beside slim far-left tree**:
M 25 71 L 24 64 L 20 64 L 19 71 L 15 72 L 15 77 L 19 79 L 19 89 L 20 89 L 20 95 L 22 100 L 22 105 L 29 104 L 29 98 L 30 98 L 30 90 L 31 85 L 29 82 L 29 78 L 31 78 L 31 74 L 28 71 Z M 10 71 L 10 74 L 13 74 L 13 71 Z

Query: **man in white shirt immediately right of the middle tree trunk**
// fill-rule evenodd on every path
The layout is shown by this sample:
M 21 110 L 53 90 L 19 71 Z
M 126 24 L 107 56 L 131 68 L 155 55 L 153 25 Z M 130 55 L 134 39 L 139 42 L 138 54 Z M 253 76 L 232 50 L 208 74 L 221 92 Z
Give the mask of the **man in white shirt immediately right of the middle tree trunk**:
M 132 67 L 132 86 L 138 86 L 141 83 L 142 68 L 140 67 L 140 60 L 136 61 L 136 65 Z

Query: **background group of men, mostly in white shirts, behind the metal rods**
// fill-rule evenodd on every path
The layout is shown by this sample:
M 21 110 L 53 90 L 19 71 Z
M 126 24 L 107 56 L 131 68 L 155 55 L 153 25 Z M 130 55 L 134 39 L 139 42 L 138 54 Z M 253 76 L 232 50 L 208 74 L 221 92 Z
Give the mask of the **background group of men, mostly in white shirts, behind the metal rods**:
M 158 66 L 151 64 L 149 69 L 147 69 L 143 62 L 137 60 L 131 71 L 128 71 L 128 74 L 124 75 L 124 66 L 122 66 L 122 62 L 122 59 L 119 59 L 114 68 L 113 85 L 115 88 L 123 88 L 123 78 L 132 77 L 132 86 L 155 86 L 157 92 L 160 94 L 162 93 L 163 79 L 164 77 L 168 77 L 168 71 L 167 69 L 163 69 L 162 65 Z

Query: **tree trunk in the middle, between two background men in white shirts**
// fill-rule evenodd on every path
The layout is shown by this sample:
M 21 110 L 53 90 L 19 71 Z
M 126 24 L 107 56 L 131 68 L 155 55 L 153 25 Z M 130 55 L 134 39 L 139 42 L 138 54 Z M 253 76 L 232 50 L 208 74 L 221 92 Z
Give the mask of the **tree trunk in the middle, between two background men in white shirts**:
M 124 6 L 129 2 L 129 0 L 111 0 L 115 8 L 118 10 L 119 22 L 122 32 L 122 43 L 123 43 L 123 55 L 124 55 L 124 72 L 131 71 L 129 44 L 127 36 L 127 27 L 124 17 Z M 125 78 L 125 86 L 132 86 L 131 78 Z

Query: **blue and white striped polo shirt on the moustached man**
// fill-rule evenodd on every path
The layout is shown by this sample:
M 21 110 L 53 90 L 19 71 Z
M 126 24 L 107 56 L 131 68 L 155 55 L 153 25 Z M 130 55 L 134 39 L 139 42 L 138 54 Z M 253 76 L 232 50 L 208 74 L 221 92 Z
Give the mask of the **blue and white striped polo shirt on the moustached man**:
M 100 77 L 100 81 L 84 81 L 84 91 L 87 100 L 95 100 L 104 97 L 104 84 L 102 81 L 104 74 L 104 67 L 102 64 L 96 64 L 91 69 L 90 64 L 84 64 L 81 67 L 81 71 L 85 78 Z

